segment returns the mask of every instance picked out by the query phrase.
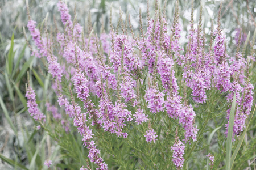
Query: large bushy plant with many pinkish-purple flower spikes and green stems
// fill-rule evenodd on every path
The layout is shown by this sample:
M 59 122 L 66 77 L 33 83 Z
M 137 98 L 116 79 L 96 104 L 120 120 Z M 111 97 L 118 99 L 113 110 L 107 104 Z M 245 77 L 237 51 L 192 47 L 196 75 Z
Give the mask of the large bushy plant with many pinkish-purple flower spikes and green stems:
M 110 32 L 97 35 L 89 23 L 87 36 L 76 18 L 71 19 L 63 1 L 59 1 L 58 10 L 63 31 L 56 29 L 53 33 L 47 25 L 44 32 L 39 31 L 28 9 L 27 28 L 35 44 L 31 50 L 43 59 L 54 96 L 44 99 L 47 112 L 52 113 L 46 116 L 39 111 L 35 91 L 28 82 L 28 112 L 37 128 L 46 130 L 80 162 L 81 169 L 182 169 L 196 147 L 209 149 L 199 141 L 210 130 L 209 123 L 225 126 L 226 131 L 219 133 L 221 138 L 230 134 L 232 101 L 236 103 L 232 140 L 245 129 L 253 105 L 253 60 L 249 62 L 249 58 L 254 56 L 240 53 L 241 33 L 236 53 L 229 56 L 220 25 L 221 7 L 210 40 L 202 26 L 203 7 L 196 28 L 192 10 L 185 49 L 179 40 L 182 28 L 177 2 L 171 25 L 166 7 L 161 11 L 158 1 L 154 18 L 148 15 L 146 32 L 139 15 L 138 36 L 129 17 L 127 33 L 121 10 L 116 29 L 110 20 Z M 76 135 L 77 141 L 71 140 L 74 133 L 81 135 Z M 86 149 L 72 152 L 79 147 L 68 148 L 75 145 L 73 142 Z M 84 155 L 95 165 L 86 162 Z M 223 160 L 214 160 L 214 154 L 209 153 L 205 160 L 206 155 L 211 168 Z M 47 160 L 45 164 L 50 168 L 55 163 Z

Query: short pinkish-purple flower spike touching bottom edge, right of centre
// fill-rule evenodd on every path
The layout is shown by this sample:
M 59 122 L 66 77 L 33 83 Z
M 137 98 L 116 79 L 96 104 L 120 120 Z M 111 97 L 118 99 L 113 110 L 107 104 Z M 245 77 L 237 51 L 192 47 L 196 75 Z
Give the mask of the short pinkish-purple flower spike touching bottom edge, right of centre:
M 174 165 L 176 165 L 177 169 L 181 169 L 181 167 L 183 167 L 183 163 L 184 163 L 184 149 L 185 149 L 185 145 L 179 140 L 177 139 L 177 141 L 174 143 L 174 146 L 171 146 L 171 150 L 172 150 L 172 162 L 174 163 Z

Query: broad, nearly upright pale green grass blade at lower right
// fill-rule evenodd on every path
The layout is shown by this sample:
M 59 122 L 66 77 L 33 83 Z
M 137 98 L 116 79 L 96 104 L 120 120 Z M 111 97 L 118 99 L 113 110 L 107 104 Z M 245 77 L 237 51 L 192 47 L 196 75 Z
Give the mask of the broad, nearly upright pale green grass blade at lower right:
M 233 128 L 234 128 L 234 114 L 236 109 L 236 94 L 234 94 L 231 111 L 229 115 L 229 129 L 228 129 L 228 139 L 226 140 L 226 170 L 230 170 L 230 158 L 232 150 L 232 138 L 233 138 Z

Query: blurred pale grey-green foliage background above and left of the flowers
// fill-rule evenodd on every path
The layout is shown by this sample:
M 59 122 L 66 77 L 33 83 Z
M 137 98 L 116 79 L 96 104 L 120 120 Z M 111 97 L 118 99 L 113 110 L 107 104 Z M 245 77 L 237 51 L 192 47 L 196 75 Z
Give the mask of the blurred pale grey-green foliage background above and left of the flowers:
M 64 0 L 63 0 L 64 1 Z M 51 28 L 53 18 L 56 18 L 57 24 L 61 27 L 60 15 L 57 11 L 57 0 L 28 0 L 30 6 L 30 15 L 32 20 L 40 24 L 48 15 L 47 24 Z M 131 24 L 138 33 L 139 26 L 139 8 L 142 10 L 143 25 L 146 26 L 147 19 L 147 1 L 137 0 L 72 0 L 64 1 L 68 4 L 69 12 L 74 17 L 74 11 L 77 15 L 77 21 L 84 26 L 88 24 L 88 15 L 92 16 L 92 24 L 99 33 L 102 27 L 109 32 L 110 8 L 112 7 L 112 22 L 114 27 L 119 20 L 119 7 L 123 11 L 122 18 L 126 19 L 130 15 Z M 164 0 L 159 1 L 163 7 Z M 214 29 L 217 27 L 217 15 L 220 7 L 220 1 L 201 1 L 203 4 L 203 28 L 209 40 L 211 20 L 214 23 Z M 154 15 L 155 1 L 149 0 L 150 16 Z M 251 36 L 256 27 L 256 1 L 230 0 L 222 1 L 221 28 L 228 39 L 228 50 L 230 55 L 236 51 L 236 43 L 240 29 L 242 29 L 242 42 L 246 40 L 248 33 Z M 191 19 L 191 1 L 180 0 L 180 22 L 183 26 L 181 33 L 181 42 L 185 45 L 186 34 L 189 30 L 189 21 Z M 174 16 L 175 1 L 168 0 L 166 15 L 168 23 L 171 25 Z M 200 1 L 194 3 L 194 20 L 198 22 Z M 30 49 L 24 39 L 23 27 L 29 35 L 27 25 L 27 11 L 25 0 L 0 0 L 0 154 L 3 162 L 0 160 L 0 169 L 10 169 L 11 160 L 17 160 L 23 165 L 28 164 L 27 155 L 24 154 L 23 147 L 26 145 L 23 135 L 33 129 L 34 123 L 27 114 L 25 94 L 26 73 L 28 67 L 36 66 L 36 61 L 31 65 Z M 145 27 L 146 28 L 146 27 Z M 14 35 L 14 36 L 13 36 Z M 13 41 L 11 41 L 13 36 Z M 12 43 L 13 42 L 13 43 Z M 31 42 L 32 44 L 32 42 Z M 249 43 L 246 53 L 249 54 L 255 50 L 255 46 Z M 11 50 L 11 51 L 10 51 Z M 14 71 L 13 74 L 7 74 L 5 70 L 6 58 L 10 53 L 13 57 Z M 36 60 L 36 59 L 35 59 Z M 39 69 L 40 68 L 35 68 Z M 40 93 L 39 93 L 40 97 Z M 23 129 L 26 131 L 23 131 Z M 4 157 L 3 157 L 4 156 Z M 10 160 L 9 160 L 10 159 Z M 7 162 L 7 163 L 6 163 Z

